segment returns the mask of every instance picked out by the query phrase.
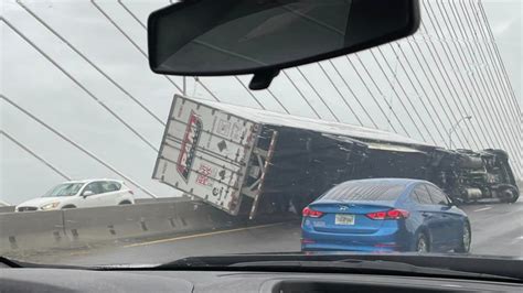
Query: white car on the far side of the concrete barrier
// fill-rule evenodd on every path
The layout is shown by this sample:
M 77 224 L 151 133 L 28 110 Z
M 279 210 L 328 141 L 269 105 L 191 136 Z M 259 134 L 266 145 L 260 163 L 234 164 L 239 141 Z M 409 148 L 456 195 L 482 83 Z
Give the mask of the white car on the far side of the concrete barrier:
M 116 180 L 70 181 L 56 185 L 42 197 L 17 206 L 15 211 L 51 210 L 135 204 L 135 195 Z

